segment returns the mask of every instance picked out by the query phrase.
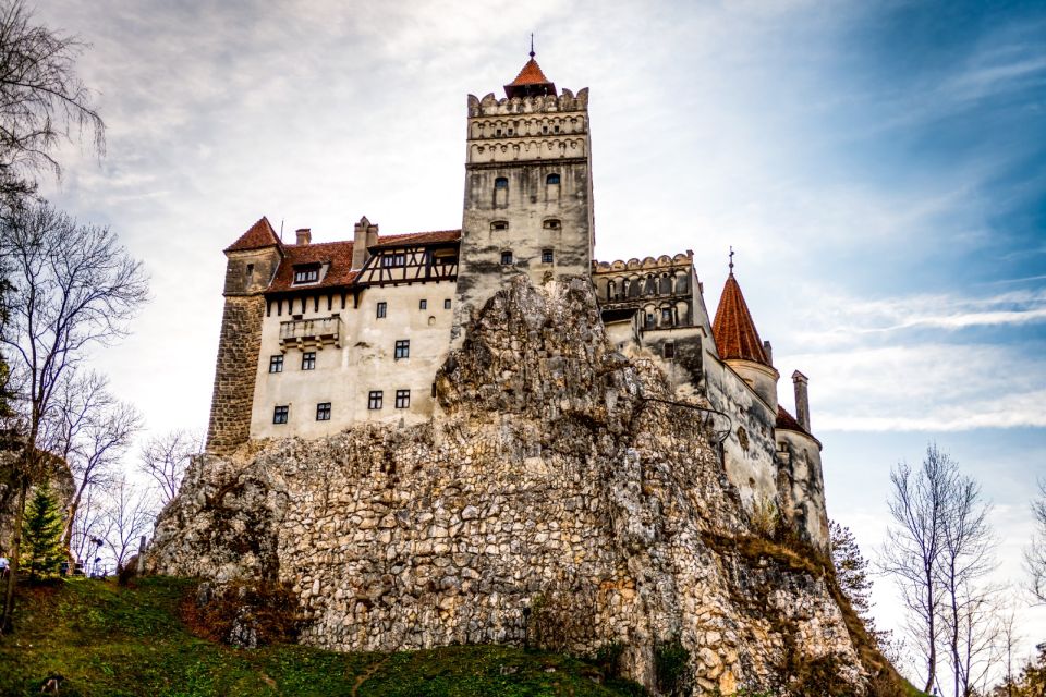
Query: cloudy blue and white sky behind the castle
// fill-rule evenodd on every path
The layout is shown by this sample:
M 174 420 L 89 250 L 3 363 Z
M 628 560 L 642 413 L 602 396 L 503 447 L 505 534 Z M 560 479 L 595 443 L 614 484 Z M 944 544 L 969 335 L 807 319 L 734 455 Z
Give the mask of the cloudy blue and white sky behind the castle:
M 994 5 L 989 8 L 988 5 Z M 1021 580 L 1046 475 L 1046 7 L 808 2 L 47 0 L 108 124 L 47 195 L 151 276 L 97 356 L 154 431 L 202 429 L 221 249 L 260 216 L 314 241 L 461 224 L 465 96 L 526 60 L 589 87 L 597 256 L 737 276 L 811 378 L 829 514 L 868 555 L 889 470 L 936 441 L 994 502 Z M 788 381 L 782 402 L 790 405 Z M 895 626 L 889 582 L 880 623 Z M 1046 639 L 1043 609 L 1024 633 Z

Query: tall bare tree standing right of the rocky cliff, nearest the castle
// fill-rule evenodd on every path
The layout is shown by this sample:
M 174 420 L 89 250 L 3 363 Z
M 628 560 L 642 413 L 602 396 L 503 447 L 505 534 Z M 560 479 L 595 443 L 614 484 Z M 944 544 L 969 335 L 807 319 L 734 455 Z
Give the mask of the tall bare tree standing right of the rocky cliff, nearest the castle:
M 928 693 L 937 682 L 937 644 L 941 627 L 938 566 L 944 552 L 947 500 L 958 476 L 954 462 L 937 449 L 926 448 L 917 472 L 901 463 L 890 473 L 888 501 L 893 524 L 880 553 L 881 570 L 895 576 L 910 613 L 909 632 L 924 651 Z

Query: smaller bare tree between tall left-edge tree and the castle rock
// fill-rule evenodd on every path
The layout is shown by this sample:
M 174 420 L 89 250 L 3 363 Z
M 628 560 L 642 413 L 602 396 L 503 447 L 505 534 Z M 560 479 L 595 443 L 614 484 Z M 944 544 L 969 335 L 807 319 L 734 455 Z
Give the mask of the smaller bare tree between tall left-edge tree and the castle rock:
M 80 376 L 70 370 L 56 392 L 56 408 L 42 429 L 45 450 L 61 456 L 73 475 L 73 496 L 62 533 L 66 551 L 85 492 L 112 481 L 113 465 L 142 428 L 138 411 L 117 400 L 108 387 L 108 379 L 97 372 Z

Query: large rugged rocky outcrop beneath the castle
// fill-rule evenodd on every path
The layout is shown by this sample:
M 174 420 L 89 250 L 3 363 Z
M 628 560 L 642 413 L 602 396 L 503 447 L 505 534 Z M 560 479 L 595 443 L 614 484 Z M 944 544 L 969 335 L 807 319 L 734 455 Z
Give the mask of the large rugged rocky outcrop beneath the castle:
M 498 293 L 437 391 L 425 426 L 196 460 L 149 568 L 288 584 L 327 648 L 619 645 L 652 688 L 677 657 L 684 694 L 827 661 L 864 693 L 820 562 L 752 535 L 701 405 L 612 350 L 587 279 Z

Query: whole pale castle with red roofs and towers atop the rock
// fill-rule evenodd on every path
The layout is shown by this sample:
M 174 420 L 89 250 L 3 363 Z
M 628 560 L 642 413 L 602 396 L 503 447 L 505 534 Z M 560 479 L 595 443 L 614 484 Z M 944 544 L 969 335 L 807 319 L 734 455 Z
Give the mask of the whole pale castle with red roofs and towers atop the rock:
M 773 502 L 826 548 L 807 379 L 792 375 L 793 417 L 732 260 L 714 320 L 692 252 L 596 261 L 588 89 L 557 91 L 532 51 L 504 91 L 469 96 L 461 230 L 380 235 L 364 217 L 352 240 L 313 244 L 301 229 L 284 244 L 262 218 L 226 248 L 208 451 L 438 418 L 437 371 L 488 298 L 520 276 L 587 277 L 616 348 L 715 423 L 746 508 Z

